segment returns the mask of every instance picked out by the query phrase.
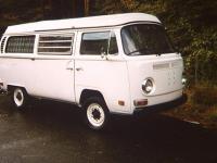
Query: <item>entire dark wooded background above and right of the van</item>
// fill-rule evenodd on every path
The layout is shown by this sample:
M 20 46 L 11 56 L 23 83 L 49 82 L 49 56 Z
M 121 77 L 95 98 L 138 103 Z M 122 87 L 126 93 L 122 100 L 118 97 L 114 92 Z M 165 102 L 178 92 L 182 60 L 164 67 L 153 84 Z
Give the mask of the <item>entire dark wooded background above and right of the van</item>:
M 77 0 L 76 8 L 75 1 L 0 0 L 0 33 L 12 24 L 81 16 L 84 1 Z M 217 85 L 216 0 L 89 0 L 89 3 L 90 15 L 144 12 L 158 16 L 184 55 L 190 85 Z

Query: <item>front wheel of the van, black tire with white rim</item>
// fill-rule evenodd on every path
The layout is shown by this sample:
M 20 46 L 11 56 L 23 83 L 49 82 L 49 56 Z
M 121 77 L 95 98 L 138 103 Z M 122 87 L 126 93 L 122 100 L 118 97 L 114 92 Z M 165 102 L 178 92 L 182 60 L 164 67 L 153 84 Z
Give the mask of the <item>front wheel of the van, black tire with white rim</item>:
M 102 130 L 106 128 L 110 112 L 104 102 L 104 100 L 100 97 L 91 97 L 88 98 L 84 105 L 84 117 L 85 123 L 94 130 Z

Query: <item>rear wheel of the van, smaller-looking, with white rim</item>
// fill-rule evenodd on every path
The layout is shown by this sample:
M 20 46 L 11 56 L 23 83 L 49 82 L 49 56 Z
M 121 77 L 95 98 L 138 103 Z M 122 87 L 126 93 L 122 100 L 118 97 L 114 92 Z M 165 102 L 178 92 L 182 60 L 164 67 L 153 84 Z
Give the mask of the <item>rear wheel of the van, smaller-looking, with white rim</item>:
M 16 87 L 12 90 L 12 101 L 13 105 L 20 110 L 23 111 L 26 109 L 28 103 L 28 95 L 24 88 Z

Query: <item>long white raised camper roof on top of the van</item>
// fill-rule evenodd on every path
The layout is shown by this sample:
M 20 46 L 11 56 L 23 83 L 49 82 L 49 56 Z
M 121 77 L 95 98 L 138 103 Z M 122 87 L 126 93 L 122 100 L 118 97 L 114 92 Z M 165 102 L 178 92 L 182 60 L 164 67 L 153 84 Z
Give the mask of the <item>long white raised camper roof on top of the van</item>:
M 131 22 L 156 22 L 159 20 L 150 14 L 144 13 L 125 13 L 125 14 L 112 14 L 101 16 L 90 16 L 81 18 L 66 18 L 56 21 L 41 21 L 35 23 L 27 23 L 21 25 L 9 26 L 4 34 L 17 34 L 29 33 L 36 30 L 58 30 L 69 28 L 91 28 L 103 26 L 117 26 Z

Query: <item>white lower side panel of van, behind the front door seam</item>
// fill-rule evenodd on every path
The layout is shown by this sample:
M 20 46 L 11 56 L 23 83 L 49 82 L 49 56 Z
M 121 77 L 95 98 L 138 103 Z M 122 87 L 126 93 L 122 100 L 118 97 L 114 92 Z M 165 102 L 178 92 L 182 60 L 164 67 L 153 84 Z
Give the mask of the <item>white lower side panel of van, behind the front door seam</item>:
M 31 96 L 75 102 L 74 72 L 66 68 L 69 61 L 1 58 L 1 79 Z

